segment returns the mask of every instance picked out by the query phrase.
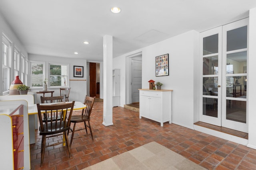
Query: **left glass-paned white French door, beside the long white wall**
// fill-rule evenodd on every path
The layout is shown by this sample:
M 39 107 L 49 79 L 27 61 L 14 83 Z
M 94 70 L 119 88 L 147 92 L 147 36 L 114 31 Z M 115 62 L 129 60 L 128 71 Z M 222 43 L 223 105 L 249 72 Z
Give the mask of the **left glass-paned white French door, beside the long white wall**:
M 221 126 L 222 27 L 200 34 L 199 120 Z

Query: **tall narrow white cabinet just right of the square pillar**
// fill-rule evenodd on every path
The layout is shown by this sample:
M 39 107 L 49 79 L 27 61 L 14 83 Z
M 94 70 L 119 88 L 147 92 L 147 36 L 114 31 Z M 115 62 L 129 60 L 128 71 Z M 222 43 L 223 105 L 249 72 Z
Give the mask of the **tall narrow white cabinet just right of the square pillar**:
M 120 69 L 113 70 L 113 107 L 120 106 Z

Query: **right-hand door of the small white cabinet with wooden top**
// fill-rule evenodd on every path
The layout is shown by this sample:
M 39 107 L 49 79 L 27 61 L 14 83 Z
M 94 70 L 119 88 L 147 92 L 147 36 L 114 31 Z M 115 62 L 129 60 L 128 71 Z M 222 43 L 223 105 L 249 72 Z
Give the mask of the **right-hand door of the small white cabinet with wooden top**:
M 150 117 L 153 119 L 161 119 L 161 98 L 150 97 Z

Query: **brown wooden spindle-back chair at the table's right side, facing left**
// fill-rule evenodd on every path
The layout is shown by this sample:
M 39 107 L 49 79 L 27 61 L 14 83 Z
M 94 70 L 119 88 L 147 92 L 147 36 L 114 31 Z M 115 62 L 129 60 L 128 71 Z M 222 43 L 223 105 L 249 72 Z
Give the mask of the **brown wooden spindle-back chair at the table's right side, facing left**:
M 93 107 L 95 98 L 96 97 L 92 98 L 92 97 L 86 96 L 84 98 L 84 105 L 86 105 L 86 108 L 82 109 L 82 114 L 81 115 L 73 115 L 71 117 L 70 122 L 74 123 L 74 126 L 73 126 L 73 129 L 70 128 L 70 130 L 72 131 L 70 146 L 72 145 L 72 141 L 73 141 L 73 138 L 74 138 L 75 131 L 82 130 L 82 129 L 77 129 L 76 130 L 76 123 L 84 122 L 84 128 L 83 129 L 85 129 L 86 134 L 88 134 L 87 127 L 89 127 L 90 133 L 91 133 L 91 136 L 92 136 L 92 140 L 93 140 L 92 127 L 90 125 L 90 115 L 92 113 L 92 107 Z M 88 125 L 86 124 L 86 121 L 88 121 Z M 81 135 L 77 138 L 84 137 L 84 136 L 86 136 L 86 135 Z

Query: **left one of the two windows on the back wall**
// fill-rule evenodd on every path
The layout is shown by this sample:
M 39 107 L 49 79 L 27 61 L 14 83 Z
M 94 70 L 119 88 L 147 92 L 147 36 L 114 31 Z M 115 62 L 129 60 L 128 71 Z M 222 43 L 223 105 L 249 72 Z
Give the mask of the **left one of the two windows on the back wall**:
M 31 87 L 42 87 L 44 79 L 44 63 L 31 62 Z

